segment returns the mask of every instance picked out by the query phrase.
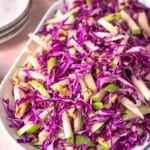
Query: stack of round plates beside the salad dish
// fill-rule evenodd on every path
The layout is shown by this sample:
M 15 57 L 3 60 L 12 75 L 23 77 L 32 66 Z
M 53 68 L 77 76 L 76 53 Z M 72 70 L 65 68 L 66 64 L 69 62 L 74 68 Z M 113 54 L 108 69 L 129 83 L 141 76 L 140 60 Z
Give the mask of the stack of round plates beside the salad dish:
M 0 0 L 0 43 L 20 33 L 29 21 L 31 0 Z

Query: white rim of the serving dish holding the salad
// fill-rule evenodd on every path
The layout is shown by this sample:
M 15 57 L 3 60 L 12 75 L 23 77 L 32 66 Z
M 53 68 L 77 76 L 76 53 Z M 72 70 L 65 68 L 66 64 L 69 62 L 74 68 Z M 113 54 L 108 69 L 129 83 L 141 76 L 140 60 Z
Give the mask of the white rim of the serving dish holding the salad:
M 63 0 L 59 0 L 59 2 L 56 2 L 45 14 L 45 16 L 43 17 L 42 21 L 40 22 L 40 24 L 38 25 L 38 27 L 36 28 L 35 32 L 39 31 L 43 24 L 44 21 L 51 18 L 54 14 L 54 12 L 57 9 L 61 9 L 63 6 L 62 3 Z M 35 50 L 35 45 L 32 43 L 31 40 L 28 41 L 28 43 L 25 45 L 25 48 L 22 50 L 22 52 L 20 53 L 19 57 L 16 59 L 16 62 L 13 64 L 13 66 L 11 67 L 11 69 L 9 70 L 9 72 L 7 73 L 7 75 L 5 76 L 4 80 L 2 81 L 1 87 L 0 87 L 0 99 L 2 98 L 9 98 L 10 103 L 13 104 L 13 97 L 12 97 L 12 84 L 11 84 L 11 78 L 13 76 L 13 74 L 15 73 L 15 71 L 21 66 L 23 65 L 24 61 L 27 59 L 27 56 L 29 55 L 29 51 L 30 50 Z M 19 150 L 38 150 L 38 148 L 33 147 L 31 144 L 18 144 L 16 142 L 16 130 L 15 129 L 11 129 L 8 127 L 9 122 L 7 121 L 7 115 L 6 112 L 4 110 L 3 104 L 2 102 L 0 102 L 0 117 L 1 117 L 1 121 L 0 121 L 0 126 L 2 126 L 3 130 L 5 131 L 5 133 L 7 134 L 8 138 L 13 142 L 14 145 L 16 145 L 16 147 L 18 147 Z M 136 150 L 140 149 L 141 147 L 137 148 Z

